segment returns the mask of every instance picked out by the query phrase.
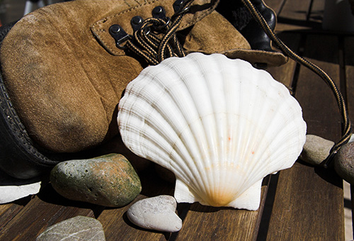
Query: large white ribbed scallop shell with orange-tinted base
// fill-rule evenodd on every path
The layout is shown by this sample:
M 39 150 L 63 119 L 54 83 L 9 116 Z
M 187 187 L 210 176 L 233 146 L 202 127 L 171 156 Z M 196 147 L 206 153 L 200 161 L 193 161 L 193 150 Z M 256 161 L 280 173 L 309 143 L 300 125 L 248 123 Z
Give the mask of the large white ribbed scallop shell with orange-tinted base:
M 147 67 L 118 108 L 123 142 L 176 175 L 178 203 L 256 210 L 263 177 L 291 167 L 306 139 L 284 85 L 220 54 Z

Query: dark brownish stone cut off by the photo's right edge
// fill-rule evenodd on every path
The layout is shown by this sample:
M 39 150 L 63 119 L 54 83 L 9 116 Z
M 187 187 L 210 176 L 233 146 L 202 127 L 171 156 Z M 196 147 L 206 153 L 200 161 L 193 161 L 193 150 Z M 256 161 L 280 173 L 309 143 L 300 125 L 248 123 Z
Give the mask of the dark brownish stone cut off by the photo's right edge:
M 354 142 L 343 145 L 334 157 L 334 169 L 350 184 L 354 184 Z

